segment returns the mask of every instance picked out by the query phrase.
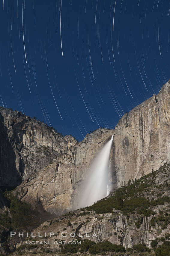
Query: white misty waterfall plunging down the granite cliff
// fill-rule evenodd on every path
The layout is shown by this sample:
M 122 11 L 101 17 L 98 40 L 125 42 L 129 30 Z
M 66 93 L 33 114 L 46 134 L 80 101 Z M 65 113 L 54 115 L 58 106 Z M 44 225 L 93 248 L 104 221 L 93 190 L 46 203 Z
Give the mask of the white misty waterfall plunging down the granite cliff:
M 81 186 L 79 208 L 90 206 L 109 195 L 109 159 L 112 138 L 99 151 Z

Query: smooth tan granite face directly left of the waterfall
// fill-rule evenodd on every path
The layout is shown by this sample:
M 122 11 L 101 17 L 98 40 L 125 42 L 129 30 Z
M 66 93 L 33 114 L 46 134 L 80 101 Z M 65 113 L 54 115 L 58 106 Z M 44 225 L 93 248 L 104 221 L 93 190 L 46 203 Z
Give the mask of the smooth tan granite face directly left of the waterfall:
M 59 155 L 52 164 L 30 175 L 16 191 L 20 199 L 41 204 L 46 211 L 63 214 L 76 208 L 81 180 L 113 131 L 100 129 Z

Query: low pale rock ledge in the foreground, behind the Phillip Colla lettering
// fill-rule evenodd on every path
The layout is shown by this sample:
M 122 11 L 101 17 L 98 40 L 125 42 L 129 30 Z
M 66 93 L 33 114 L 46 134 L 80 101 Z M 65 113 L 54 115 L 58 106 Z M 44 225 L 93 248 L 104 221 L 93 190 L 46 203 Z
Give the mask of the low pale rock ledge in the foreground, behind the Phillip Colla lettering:
M 71 217 L 70 222 L 72 225 L 70 227 L 68 227 L 70 217 L 61 217 L 59 223 L 55 219 L 44 222 L 40 227 L 33 230 L 33 234 L 37 240 L 40 240 L 37 238 L 38 233 L 43 236 L 46 232 L 49 236 L 49 233 L 53 232 L 55 235 L 51 237 L 51 241 L 55 241 L 57 238 L 64 239 L 67 243 L 77 238 L 70 237 L 70 234 L 74 236 L 74 233 L 76 233 L 83 240 L 90 239 L 94 242 L 109 241 L 113 244 L 121 244 L 125 248 L 132 248 L 133 245 L 145 243 L 147 247 L 151 248 L 151 241 L 155 240 L 157 236 L 160 236 L 160 229 L 151 227 L 150 223 L 153 216 L 145 217 L 140 229 L 138 229 L 135 225 L 135 219 L 137 217 L 137 215 L 130 214 L 127 219 L 119 211 L 107 214 L 93 213 L 85 216 Z M 63 228 L 65 229 L 64 233 L 62 233 Z M 166 235 L 169 232 L 168 230 L 169 227 L 163 230 L 161 236 Z M 45 238 L 41 239 L 41 241 L 45 240 Z M 56 245 L 52 245 L 51 248 L 55 249 Z

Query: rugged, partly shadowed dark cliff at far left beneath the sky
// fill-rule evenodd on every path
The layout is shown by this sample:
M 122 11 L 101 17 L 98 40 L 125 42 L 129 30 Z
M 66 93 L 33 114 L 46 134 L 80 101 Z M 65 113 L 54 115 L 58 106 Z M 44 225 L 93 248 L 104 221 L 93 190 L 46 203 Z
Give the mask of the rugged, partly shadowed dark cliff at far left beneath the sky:
M 19 111 L 0 107 L 0 186 L 15 187 L 77 142 Z

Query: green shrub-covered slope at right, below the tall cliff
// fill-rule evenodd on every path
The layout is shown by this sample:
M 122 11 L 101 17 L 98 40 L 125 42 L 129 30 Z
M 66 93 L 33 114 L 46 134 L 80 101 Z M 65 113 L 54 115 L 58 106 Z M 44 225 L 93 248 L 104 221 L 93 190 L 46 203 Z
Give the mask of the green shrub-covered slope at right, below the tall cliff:
M 155 184 L 154 179 L 159 172 L 166 173 L 169 165 L 164 164 L 159 170 L 143 176 L 135 182 L 128 182 L 128 186 L 124 186 L 116 190 L 113 195 L 97 201 L 90 207 L 86 207 L 87 211 L 95 211 L 96 213 L 109 213 L 113 208 L 121 210 L 123 214 L 129 213 L 143 214 L 144 216 L 154 215 L 152 207 L 163 205 L 170 202 L 169 196 L 163 196 L 165 190 L 170 190 L 169 181 L 165 180 L 165 184 Z M 154 190 L 157 190 L 157 198 L 154 199 Z M 150 209 L 148 209 L 150 208 Z

